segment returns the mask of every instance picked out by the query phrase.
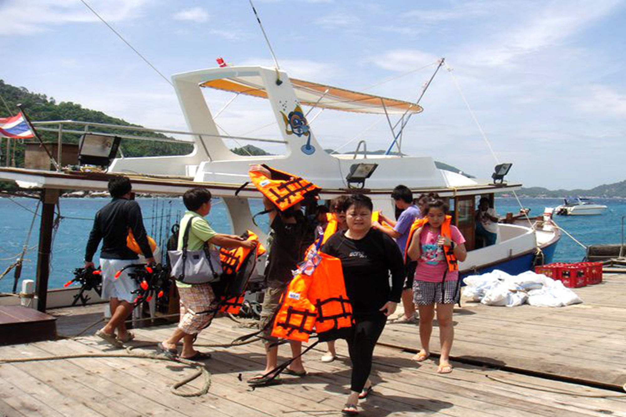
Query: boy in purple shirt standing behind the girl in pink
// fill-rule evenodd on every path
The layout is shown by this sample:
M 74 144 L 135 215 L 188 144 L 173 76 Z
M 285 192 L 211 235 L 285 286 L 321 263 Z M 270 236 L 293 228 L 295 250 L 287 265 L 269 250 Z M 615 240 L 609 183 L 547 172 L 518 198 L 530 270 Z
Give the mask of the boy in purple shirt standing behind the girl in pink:
M 374 229 L 381 230 L 384 234 L 396 239 L 396 244 L 400 249 L 400 252 L 404 255 L 404 249 L 406 247 L 406 240 L 409 237 L 409 230 L 415 219 L 422 217 L 419 208 L 413 204 L 413 193 L 405 185 L 398 185 L 391 192 L 391 198 L 394 199 L 396 207 L 403 210 L 398 221 L 389 219 L 384 215 L 380 215 L 380 219 L 383 222 L 393 226 L 393 229 L 384 227 L 378 222 L 372 222 Z M 404 289 L 402 292 L 402 304 L 404 306 L 404 314 L 398 317 L 394 322 L 396 323 L 412 323 L 415 322 L 415 305 L 413 304 L 413 275 L 415 275 L 416 262 L 409 259 L 408 264 L 405 265 L 406 279 L 404 280 Z

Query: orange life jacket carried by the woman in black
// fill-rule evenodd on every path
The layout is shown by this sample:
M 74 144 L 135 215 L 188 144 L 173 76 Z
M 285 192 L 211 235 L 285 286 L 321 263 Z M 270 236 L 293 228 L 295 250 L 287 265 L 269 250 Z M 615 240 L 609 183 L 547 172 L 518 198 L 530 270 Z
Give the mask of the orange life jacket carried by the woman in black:
M 301 342 L 313 332 L 352 326 L 341 260 L 319 253 L 307 259 L 289 282 L 274 319 L 272 336 Z

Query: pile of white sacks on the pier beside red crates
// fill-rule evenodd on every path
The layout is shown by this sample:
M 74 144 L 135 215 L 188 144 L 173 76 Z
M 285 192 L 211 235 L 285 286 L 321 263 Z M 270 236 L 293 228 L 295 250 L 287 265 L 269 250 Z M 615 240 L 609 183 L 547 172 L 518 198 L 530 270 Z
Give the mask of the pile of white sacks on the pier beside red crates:
M 562 307 L 583 302 L 571 289 L 532 271 L 509 275 L 494 270 L 463 279 L 463 295 L 486 306 L 515 307 L 528 303 L 538 307 Z

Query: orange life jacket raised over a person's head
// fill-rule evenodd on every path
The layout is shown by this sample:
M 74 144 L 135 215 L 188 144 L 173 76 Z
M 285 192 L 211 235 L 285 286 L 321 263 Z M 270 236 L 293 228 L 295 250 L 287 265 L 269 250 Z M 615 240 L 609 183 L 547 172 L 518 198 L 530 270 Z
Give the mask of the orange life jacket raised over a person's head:
M 250 180 L 265 197 L 282 212 L 304 200 L 307 195 L 317 195 L 321 188 L 297 175 L 279 171 L 263 165 L 272 173 L 272 178 L 263 173 L 250 171 Z

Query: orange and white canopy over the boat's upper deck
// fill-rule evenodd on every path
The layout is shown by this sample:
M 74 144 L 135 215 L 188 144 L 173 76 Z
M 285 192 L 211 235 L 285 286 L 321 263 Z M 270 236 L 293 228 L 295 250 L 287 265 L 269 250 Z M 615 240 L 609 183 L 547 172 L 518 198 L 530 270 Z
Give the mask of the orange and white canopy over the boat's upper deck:
M 385 111 L 390 115 L 403 115 L 404 113 L 420 113 L 423 110 L 418 104 L 409 101 L 359 93 L 344 88 L 298 80 L 297 78 L 290 78 L 290 81 L 294 87 L 296 98 L 302 105 L 306 106 L 383 115 Z M 267 98 L 267 92 L 260 76 L 219 78 L 205 81 L 200 86 Z

